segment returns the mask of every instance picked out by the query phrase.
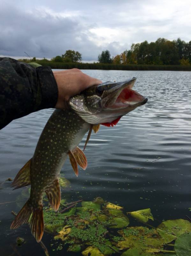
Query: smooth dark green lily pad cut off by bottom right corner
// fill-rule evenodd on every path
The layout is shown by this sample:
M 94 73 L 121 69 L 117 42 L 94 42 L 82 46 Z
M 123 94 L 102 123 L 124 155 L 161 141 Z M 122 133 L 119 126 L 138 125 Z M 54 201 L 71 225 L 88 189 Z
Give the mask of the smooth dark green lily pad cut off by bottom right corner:
M 191 233 L 180 235 L 175 241 L 174 250 L 177 256 L 191 255 Z

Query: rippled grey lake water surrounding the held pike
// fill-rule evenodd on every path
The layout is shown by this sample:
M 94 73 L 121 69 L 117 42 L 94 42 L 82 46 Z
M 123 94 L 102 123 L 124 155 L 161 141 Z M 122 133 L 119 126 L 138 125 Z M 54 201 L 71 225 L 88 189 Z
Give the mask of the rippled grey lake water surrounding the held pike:
M 103 82 L 135 76 L 134 89 L 148 102 L 123 116 L 115 127 L 101 126 L 97 134 L 92 134 L 85 150 L 88 167 L 85 172 L 80 170 L 78 178 L 69 160 L 65 162 L 62 173 L 71 187 L 62 192 L 62 197 L 91 201 L 101 196 L 123 206 L 124 212 L 151 208 L 159 221 L 191 217 L 191 72 L 83 71 Z M 13 179 L 33 156 L 52 111 L 32 113 L 0 131 L 0 183 Z M 11 211 L 19 211 L 14 201 L 23 191 L 12 190 L 10 185 L 6 181 L 0 187 L 0 254 L 43 256 L 27 225 L 10 230 L 14 219 Z M 21 205 L 25 201 L 20 199 Z M 26 239 L 21 247 L 15 247 L 18 236 Z M 64 255 L 63 251 L 52 251 L 50 235 L 44 233 L 42 240 L 50 255 Z

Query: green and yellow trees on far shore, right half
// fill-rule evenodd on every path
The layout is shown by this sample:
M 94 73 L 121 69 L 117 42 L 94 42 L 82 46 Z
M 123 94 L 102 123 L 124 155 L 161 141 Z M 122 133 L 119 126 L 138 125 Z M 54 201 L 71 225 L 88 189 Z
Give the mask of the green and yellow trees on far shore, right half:
M 100 63 L 140 65 L 191 65 L 191 41 L 158 38 L 156 42 L 132 44 L 130 50 L 111 58 L 108 50 L 98 55 Z

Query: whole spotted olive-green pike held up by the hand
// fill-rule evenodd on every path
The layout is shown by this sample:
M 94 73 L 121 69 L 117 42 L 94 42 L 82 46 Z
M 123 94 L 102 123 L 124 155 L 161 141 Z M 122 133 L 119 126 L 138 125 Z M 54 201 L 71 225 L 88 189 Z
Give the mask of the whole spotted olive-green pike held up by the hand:
M 38 140 L 33 157 L 15 177 L 14 189 L 31 184 L 30 198 L 11 224 L 16 229 L 30 218 L 29 226 L 37 242 L 44 232 L 43 194 L 46 192 L 51 207 L 57 211 L 61 200 L 58 175 L 67 156 L 76 175 L 84 170 L 87 160 L 78 144 L 88 130 L 99 130 L 99 124 L 113 126 L 121 116 L 147 102 L 133 85 L 136 78 L 124 82 L 91 86 L 69 100 L 68 110 L 56 109 L 48 119 Z

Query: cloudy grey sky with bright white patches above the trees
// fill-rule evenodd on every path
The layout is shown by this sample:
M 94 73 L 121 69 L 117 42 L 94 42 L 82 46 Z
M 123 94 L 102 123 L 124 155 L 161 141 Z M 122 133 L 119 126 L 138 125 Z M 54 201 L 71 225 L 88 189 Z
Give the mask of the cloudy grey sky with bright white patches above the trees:
M 0 56 L 83 60 L 158 37 L 191 40 L 191 0 L 0 0 Z

